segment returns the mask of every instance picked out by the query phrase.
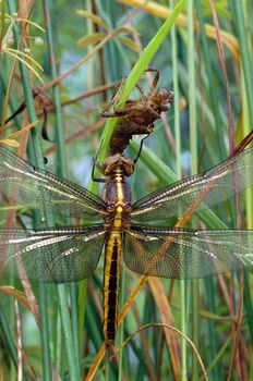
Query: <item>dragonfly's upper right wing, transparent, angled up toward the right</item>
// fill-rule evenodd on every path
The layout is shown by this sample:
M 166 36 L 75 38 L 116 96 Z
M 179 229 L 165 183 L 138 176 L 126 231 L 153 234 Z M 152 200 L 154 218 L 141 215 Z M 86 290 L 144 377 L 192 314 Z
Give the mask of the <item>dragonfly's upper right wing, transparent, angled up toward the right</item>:
M 212 170 L 149 194 L 132 207 L 134 221 L 182 217 L 210 208 L 253 184 L 253 148 Z

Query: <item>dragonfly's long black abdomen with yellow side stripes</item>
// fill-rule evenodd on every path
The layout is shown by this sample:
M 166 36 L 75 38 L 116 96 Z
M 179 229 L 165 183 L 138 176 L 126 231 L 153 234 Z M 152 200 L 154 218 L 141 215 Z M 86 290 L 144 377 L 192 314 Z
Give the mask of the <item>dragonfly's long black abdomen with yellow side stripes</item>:
M 118 327 L 118 294 L 120 278 L 120 257 L 122 235 L 112 231 L 106 242 L 105 274 L 104 274 L 104 325 L 103 331 L 107 345 L 115 342 Z

